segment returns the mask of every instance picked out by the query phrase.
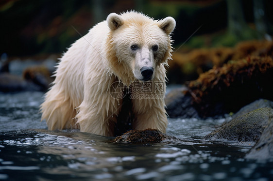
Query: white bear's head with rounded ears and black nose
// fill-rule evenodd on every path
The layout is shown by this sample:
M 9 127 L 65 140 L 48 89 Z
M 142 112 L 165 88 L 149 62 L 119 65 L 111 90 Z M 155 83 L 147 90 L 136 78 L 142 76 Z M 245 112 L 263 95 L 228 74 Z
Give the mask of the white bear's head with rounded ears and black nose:
M 153 80 L 158 66 L 171 59 L 171 37 L 175 20 L 154 20 L 134 11 L 108 15 L 107 60 L 122 81 Z M 128 80 L 123 80 L 128 77 Z M 125 83 L 124 82 L 124 83 Z

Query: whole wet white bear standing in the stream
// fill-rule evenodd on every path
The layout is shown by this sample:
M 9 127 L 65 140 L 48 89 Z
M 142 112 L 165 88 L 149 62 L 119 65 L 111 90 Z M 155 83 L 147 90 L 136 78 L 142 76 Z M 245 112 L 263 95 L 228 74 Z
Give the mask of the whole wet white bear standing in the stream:
M 171 59 L 174 28 L 172 17 L 154 20 L 135 11 L 108 15 L 60 59 L 41 105 L 41 120 L 50 130 L 76 128 L 115 136 L 126 93 L 121 84 L 129 88 L 132 129 L 165 133 L 164 66 Z

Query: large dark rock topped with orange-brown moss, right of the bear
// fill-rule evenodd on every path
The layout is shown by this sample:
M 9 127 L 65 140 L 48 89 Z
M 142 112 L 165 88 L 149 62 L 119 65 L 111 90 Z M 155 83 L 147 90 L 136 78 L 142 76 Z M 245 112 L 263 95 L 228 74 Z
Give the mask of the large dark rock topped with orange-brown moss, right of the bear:
M 260 98 L 273 100 L 272 78 L 271 57 L 248 57 L 201 74 L 187 84 L 186 95 L 192 97 L 193 106 L 201 117 L 213 117 L 237 112 Z

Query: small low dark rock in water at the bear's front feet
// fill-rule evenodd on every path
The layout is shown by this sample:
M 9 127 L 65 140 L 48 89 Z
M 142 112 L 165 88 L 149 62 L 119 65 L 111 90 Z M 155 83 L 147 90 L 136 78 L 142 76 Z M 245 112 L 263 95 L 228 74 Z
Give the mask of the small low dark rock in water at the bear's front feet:
M 146 130 L 131 130 L 127 133 L 116 137 L 114 143 L 159 143 L 177 139 L 173 136 L 168 136 L 156 129 Z

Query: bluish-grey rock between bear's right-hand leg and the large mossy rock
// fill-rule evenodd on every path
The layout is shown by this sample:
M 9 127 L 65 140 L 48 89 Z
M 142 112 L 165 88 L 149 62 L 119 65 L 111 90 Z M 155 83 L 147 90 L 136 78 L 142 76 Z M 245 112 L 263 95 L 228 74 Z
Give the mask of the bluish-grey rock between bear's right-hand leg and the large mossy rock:
M 166 95 L 166 111 L 170 118 L 199 118 L 198 112 L 192 106 L 192 98 L 183 93 L 186 89 L 177 88 Z

